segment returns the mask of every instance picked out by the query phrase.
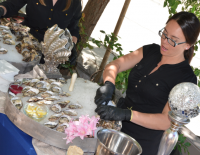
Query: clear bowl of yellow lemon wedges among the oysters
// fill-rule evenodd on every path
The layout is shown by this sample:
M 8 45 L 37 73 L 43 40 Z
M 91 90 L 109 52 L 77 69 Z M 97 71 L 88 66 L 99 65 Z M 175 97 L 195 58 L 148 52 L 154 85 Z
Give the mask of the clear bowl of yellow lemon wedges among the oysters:
M 37 103 L 27 103 L 23 110 L 25 115 L 36 121 L 41 121 L 48 115 L 48 107 Z

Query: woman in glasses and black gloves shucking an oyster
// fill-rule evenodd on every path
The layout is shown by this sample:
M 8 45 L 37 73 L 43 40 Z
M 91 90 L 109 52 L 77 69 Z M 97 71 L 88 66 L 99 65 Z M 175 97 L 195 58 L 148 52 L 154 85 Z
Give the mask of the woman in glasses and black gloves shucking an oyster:
M 145 45 L 105 67 L 105 84 L 97 89 L 95 111 L 101 119 L 122 121 L 121 131 L 139 142 L 142 155 L 156 155 L 162 134 L 170 127 L 171 89 L 181 82 L 197 84 L 189 63 L 199 32 L 193 13 L 177 13 L 159 31 L 161 45 Z M 117 107 L 102 105 L 112 99 L 117 73 L 130 68 L 126 97 Z

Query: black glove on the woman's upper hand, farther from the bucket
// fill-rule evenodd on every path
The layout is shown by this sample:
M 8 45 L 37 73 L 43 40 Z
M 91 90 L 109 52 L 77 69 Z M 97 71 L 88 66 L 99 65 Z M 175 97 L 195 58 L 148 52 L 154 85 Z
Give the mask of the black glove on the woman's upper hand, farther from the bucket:
M 94 102 L 97 104 L 97 106 L 101 105 L 104 102 L 106 102 L 107 105 L 108 102 L 112 99 L 114 90 L 115 85 L 110 81 L 106 81 L 104 86 L 98 88 L 96 91 L 96 96 L 94 98 Z

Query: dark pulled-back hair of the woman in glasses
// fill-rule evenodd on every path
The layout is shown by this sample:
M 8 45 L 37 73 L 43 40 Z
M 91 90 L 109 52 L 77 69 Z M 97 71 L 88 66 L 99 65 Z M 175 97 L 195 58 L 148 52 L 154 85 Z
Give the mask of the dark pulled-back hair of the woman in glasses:
M 170 17 L 167 23 L 171 20 L 175 20 L 179 24 L 185 36 L 186 42 L 191 45 L 191 48 L 184 51 L 184 57 L 190 63 L 194 55 L 194 44 L 197 41 L 200 32 L 199 19 L 193 13 L 182 11 Z

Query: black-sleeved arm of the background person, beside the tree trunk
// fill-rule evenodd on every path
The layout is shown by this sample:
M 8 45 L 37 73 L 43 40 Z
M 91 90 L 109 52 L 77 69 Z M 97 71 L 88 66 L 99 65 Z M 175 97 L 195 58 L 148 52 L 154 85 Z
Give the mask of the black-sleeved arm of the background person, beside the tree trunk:
M 75 2 L 75 1 L 74 1 Z M 78 27 L 78 23 L 79 23 L 79 20 L 81 18 L 81 10 L 82 10 L 82 5 L 81 5 L 81 1 L 80 0 L 77 0 L 76 1 L 77 4 L 76 4 L 76 9 L 74 9 L 73 11 L 74 14 L 73 14 L 73 17 L 68 25 L 68 29 L 72 35 L 72 40 L 73 42 L 76 44 L 78 38 L 79 38 L 79 27 Z

